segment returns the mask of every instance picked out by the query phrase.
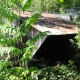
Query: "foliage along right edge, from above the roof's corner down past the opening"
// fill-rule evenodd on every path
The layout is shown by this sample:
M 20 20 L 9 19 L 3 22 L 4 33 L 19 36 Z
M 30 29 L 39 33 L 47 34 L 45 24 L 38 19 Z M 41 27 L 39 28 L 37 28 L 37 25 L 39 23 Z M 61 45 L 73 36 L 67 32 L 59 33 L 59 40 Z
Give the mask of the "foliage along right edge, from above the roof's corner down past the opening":
M 74 54 L 74 61 L 75 65 L 77 66 L 78 70 L 80 71 L 80 17 L 75 20 L 75 23 L 78 26 L 78 33 L 76 34 L 74 40 L 70 40 L 74 49 L 76 49 L 76 54 Z

